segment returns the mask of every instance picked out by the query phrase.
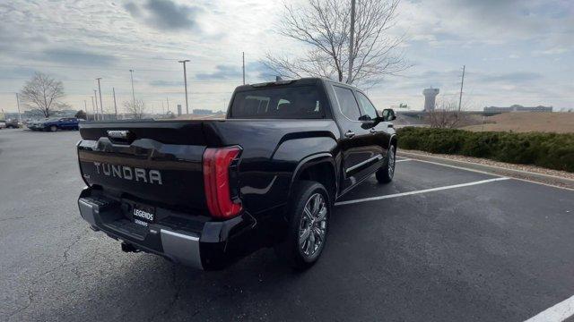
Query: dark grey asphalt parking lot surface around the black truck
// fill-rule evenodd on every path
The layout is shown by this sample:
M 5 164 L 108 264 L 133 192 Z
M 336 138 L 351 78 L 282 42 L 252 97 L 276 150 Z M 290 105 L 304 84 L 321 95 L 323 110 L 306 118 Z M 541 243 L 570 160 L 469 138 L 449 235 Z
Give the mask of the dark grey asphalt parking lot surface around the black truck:
M 200 272 L 88 229 L 77 140 L 0 131 L 2 321 L 524 321 L 574 294 L 574 191 L 403 159 L 340 200 L 309 271 Z

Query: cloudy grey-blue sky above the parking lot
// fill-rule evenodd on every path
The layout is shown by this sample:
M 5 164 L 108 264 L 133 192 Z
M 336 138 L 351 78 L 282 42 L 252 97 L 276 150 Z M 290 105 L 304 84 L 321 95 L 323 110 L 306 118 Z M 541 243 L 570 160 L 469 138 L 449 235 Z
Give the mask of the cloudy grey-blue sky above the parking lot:
M 343 1 L 343 0 L 342 0 Z M 361 1 L 361 0 L 358 0 Z M 304 3 L 294 0 L 293 4 Z M 0 3 L 0 108 L 34 72 L 63 80 L 66 102 L 91 110 L 95 78 L 104 108 L 136 98 L 154 112 L 184 105 L 180 59 L 189 59 L 190 109 L 226 108 L 241 81 L 272 80 L 265 53 L 296 56 L 304 47 L 279 36 L 281 1 L 10 0 Z M 571 0 L 403 0 L 391 30 L 413 67 L 369 89 L 379 109 L 422 108 L 422 89 L 457 98 L 466 65 L 465 106 L 574 107 L 574 2 Z

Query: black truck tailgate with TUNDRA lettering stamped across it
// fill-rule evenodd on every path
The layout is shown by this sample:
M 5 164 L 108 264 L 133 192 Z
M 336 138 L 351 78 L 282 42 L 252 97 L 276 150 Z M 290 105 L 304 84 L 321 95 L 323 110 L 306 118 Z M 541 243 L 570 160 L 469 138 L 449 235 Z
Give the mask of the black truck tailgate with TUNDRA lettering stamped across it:
M 80 169 L 92 188 L 191 213 L 206 208 L 203 123 L 87 123 L 80 133 Z

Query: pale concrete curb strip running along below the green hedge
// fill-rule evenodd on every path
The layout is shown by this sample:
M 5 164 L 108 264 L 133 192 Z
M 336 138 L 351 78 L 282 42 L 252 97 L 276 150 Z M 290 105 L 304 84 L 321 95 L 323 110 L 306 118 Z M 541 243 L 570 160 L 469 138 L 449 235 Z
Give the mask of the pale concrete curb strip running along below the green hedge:
M 538 183 L 552 185 L 552 186 L 556 186 L 556 187 L 560 187 L 560 188 L 568 188 L 568 189 L 574 190 L 574 180 L 555 176 L 555 175 L 537 174 L 537 173 L 532 173 L 532 172 L 523 171 L 523 170 L 508 169 L 508 168 L 495 166 L 495 165 L 481 165 L 481 164 L 476 164 L 476 163 L 467 162 L 467 161 L 453 160 L 453 159 L 449 159 L 446 157 L 435 157 L 435 156 L 429 156 L 426 154 L 419 154 L 419 153 L 413 153 L 413 152 L 403 152 L 401 150 L 397 151 L 397 155 L 399 157 L 408 157 L 408 158 L 412 158 L 415 160 L 433 162 L 433 163 L 438 163 L 441 165 L 457 166 L 457 167 L 470 169 L 470 170 L 474 170 L 474 171 L 479 171 L 479 172 L 483 172 L 483 173 L 509 176 L 512 178 L 520 179 L 520 180 L 538 182 Z

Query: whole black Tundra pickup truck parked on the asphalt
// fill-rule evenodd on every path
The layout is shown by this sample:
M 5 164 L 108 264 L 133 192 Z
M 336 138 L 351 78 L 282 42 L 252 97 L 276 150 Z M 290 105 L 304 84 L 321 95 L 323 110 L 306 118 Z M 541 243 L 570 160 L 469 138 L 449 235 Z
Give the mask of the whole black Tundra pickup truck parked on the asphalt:
M 335 200 L 392 180 L 395 117 L 309 78 L 239 86 L 224 120 L 81 123 L 80 213 L 126 252 L 207 270 L 274 247 L 310 267 Z

